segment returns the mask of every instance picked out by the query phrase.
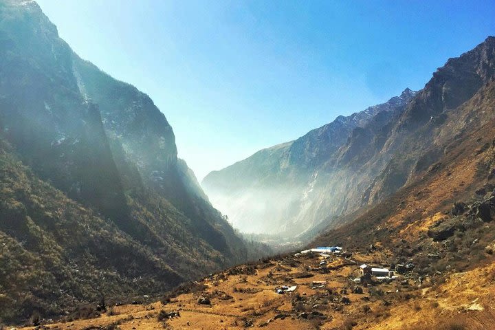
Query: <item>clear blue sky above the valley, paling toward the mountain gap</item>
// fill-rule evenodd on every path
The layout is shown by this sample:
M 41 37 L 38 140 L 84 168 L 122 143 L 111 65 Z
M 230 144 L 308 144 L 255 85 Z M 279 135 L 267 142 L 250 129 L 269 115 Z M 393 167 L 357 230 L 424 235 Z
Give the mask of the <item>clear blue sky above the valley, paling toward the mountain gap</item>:
M 38 3 L 82 58 L 151 96 L 199 179 L 421 89 L 495 34 L 495 0 Z

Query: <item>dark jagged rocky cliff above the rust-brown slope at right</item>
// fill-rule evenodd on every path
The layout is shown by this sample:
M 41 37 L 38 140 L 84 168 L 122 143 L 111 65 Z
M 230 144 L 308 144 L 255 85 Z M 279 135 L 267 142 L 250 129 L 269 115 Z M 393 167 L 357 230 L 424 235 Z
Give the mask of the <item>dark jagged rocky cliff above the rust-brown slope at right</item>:
M 474 50 L 459 58 L 450 58 L 445 66 L 434 72 L 432 79 L 412 99 L 404 113 L 393 122 L 384 147 L 375 156 L 388 155 L 391 160 L 369 186 L 369 203 L 380 200 L 387 190 L 410 183 L 437 162 L 445 153 L 445 144 L 461 141 L 466 126 L 477 121 L 485 124 L 491 118 L 476 107 L 465 109 L 469 101 L 483 86 L 494 78 L 495 38 L 489 36 Z M 464 113 L 459 122 L 454 118 Z

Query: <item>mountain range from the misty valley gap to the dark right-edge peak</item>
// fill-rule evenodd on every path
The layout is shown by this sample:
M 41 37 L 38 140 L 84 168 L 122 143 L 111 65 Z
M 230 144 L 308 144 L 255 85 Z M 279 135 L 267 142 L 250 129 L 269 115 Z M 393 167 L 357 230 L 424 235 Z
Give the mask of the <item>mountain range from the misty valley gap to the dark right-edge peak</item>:
M 461 139 L 470 120 L 488 120 L 488 113 L 472 109 L 469 118 L 446 121 L 494 79 L 494 44 L 490 36 L 450 58 L 421 91 L 406 89 L 214 171 L 203 188 L 245 232 L 311 237 L 349 221 L 349 214 L 384 200 L 438 162 L 444 144 Z

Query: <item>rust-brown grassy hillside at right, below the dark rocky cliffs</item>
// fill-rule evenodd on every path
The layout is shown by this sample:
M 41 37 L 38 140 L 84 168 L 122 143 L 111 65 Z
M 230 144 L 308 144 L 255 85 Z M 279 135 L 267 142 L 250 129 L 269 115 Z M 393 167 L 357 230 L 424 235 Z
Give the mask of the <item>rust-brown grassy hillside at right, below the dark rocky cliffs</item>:
M 444 155 L 423 175 L 354 219 L 341 219 L 346 224 L 314 243 L 357 247 L 381 242 L 391 250 L 410 248 L 411 256 L 421 252 L 415 257 L 439 253 L 442 259 L 463 261 L 463 267 L 476 264 L 494 237 L 489 225 L 495 206 L 494 96 L 491 81 L 448 113 L 445 122 L 461 124 L 463 136 L 445 143 Z M 483 116 L 472 120 L 473 111 Z

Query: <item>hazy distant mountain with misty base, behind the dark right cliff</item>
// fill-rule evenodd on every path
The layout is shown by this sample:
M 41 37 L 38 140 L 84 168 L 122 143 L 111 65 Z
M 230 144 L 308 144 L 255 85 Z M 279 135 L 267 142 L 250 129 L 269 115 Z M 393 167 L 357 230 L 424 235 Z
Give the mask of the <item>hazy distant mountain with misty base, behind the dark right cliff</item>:
M 311 230 L 358 203 L 347 205 L 351 201 L 344 193 L 355 166 L 380 148 L 386 126 L 415 95 L 405 89 L 384 104 L 340 115 L 297 140 L 208 174 L 202 186 L 241 230 L 287 235 Z

